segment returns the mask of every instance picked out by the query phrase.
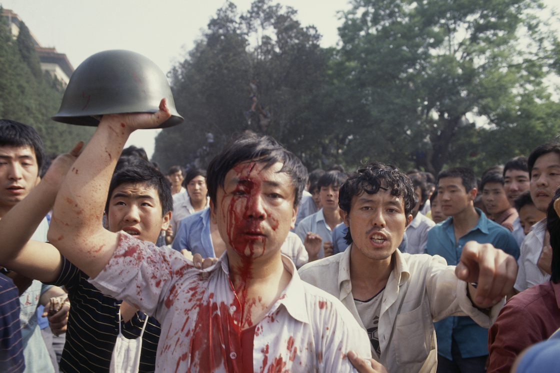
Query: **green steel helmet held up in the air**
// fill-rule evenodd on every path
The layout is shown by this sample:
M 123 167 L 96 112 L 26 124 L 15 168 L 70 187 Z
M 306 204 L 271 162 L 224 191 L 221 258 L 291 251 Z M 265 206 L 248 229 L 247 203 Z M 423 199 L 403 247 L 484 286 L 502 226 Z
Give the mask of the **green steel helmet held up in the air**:
M 175 108 L 165 74 L 141 54 L 106 50 L 90 56 L 74 71 L 52 120 L 97 126 L 104 114 L 157 112 L 164 97 L 171 117 L 159 128 L 184 120 Z

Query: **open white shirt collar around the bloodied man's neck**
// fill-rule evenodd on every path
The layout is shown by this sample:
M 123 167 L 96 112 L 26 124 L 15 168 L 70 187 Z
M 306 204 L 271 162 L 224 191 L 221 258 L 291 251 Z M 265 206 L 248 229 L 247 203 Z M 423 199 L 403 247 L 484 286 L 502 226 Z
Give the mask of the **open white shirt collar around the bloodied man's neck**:
M 221 266 L 222 271 L 226 273 L 227 277 L 229 278 L 230 269 L 229 269 L 229 261 L 227 258 L 227 252 L 225 255 L 222 255 L 220 259 L 218 259 L 217 264 Z M 292 278 L 290 282 L 288 282 L 286 289 L 282 291 L 282 294 L 276 300 L 276 303 L 274 303 L 274 305 L 272 306 L 272 308 L 268 313 L 271 314 L 272 312 L 274 312 L 276 309 L 278 309 L 280 306 L 283 305 L 291 317 L 293 317 L 294 319 L 302 323 L 309 324 L 310 322 L 307 313 L 307 304 L 305 301 L 306 299 L 305 286 L 303 280 L 301 280 L 300 275 L 298 275 L 296 271 L 296 266 L 293 264 L 291 259 L 285 256 L 284 254 L 282 254 L 282 264 L 284 265 L 284 268 L 286 268 L 286 270 L 291 273 Z M 207 268 L 207 270 L 210 270 L 211 268 L 213 268 L 213 266 Z

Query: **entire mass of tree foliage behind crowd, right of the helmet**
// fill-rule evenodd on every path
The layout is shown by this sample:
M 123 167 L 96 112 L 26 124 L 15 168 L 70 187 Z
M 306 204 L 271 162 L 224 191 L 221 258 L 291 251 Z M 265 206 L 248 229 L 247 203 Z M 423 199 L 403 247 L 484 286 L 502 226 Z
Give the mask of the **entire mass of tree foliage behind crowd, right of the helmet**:
M 170 72 L 185 124 L 155 160 L 205 167 L 235 133 L 273 135 L 307 167 L 380 160 L 482 172 L 560 132 L 560 42 L 538 0 L 353 0 L 339 48 L 290 7 L 226 3 Z M 270 124 L 246 119 L 258 79 Z M 213 135 L 213 142 L 207 135 Z

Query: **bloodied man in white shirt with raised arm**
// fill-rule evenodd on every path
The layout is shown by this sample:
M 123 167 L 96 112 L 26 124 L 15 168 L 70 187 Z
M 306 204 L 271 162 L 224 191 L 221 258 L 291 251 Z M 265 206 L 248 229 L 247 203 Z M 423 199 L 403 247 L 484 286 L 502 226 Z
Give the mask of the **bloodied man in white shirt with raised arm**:
M 161 323 L 156 371 L 354 371 L 367 336 L 338 300 L 300 280 L 280 253 L 306 171 L 271 138 L 246 135 L 208 168 L 226 254 L 201 271 L 179 252 L 101 227 L 115 160 L 132 131 L 170 116 L 103 116 L 57 196 L 49 239 L 101 291 Z M 354 354 L 351 354 L 354 356 Z

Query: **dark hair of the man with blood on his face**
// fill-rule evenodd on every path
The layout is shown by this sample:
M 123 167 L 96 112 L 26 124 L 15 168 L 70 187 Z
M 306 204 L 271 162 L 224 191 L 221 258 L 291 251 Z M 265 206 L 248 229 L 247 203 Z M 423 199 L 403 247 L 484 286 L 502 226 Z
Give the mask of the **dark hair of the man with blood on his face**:
M 277 162 L 282 163 L 283 166 L 278 172 L 285 172 L 290 176 L 295 188 L 293 206 L 296 207 L 300 204 L 301 195 L 307 184 L 307 168 L 301 163 L 301 160 L 270 136 L 244 133 L 227 143 L 220 154 L 216 155 L 208 165 L 206 185 L 208 195 L 214 205 L 216 205 L 218 186 L 223 188 L 226 174 L 236 164 L 251 161 L 265 163 L 264 168 Z

